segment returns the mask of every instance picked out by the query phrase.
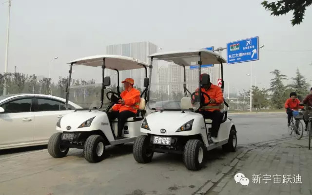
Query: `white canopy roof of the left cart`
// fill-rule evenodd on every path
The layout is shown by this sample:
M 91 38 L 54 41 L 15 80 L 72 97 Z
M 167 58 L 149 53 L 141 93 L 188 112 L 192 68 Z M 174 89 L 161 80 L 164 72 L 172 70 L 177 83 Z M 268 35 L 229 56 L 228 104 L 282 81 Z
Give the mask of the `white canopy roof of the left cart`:
M 71 62 L 68 62 L 67 64 L 73 63 L 73 65 L 98 67 L 103 65 L 104 58 L 106 69 L 117 69 L 118 71 L 125 71 L 149 67 L 149 65 L 145 62 L 123 55 L 93 55 L 73 60 Z

